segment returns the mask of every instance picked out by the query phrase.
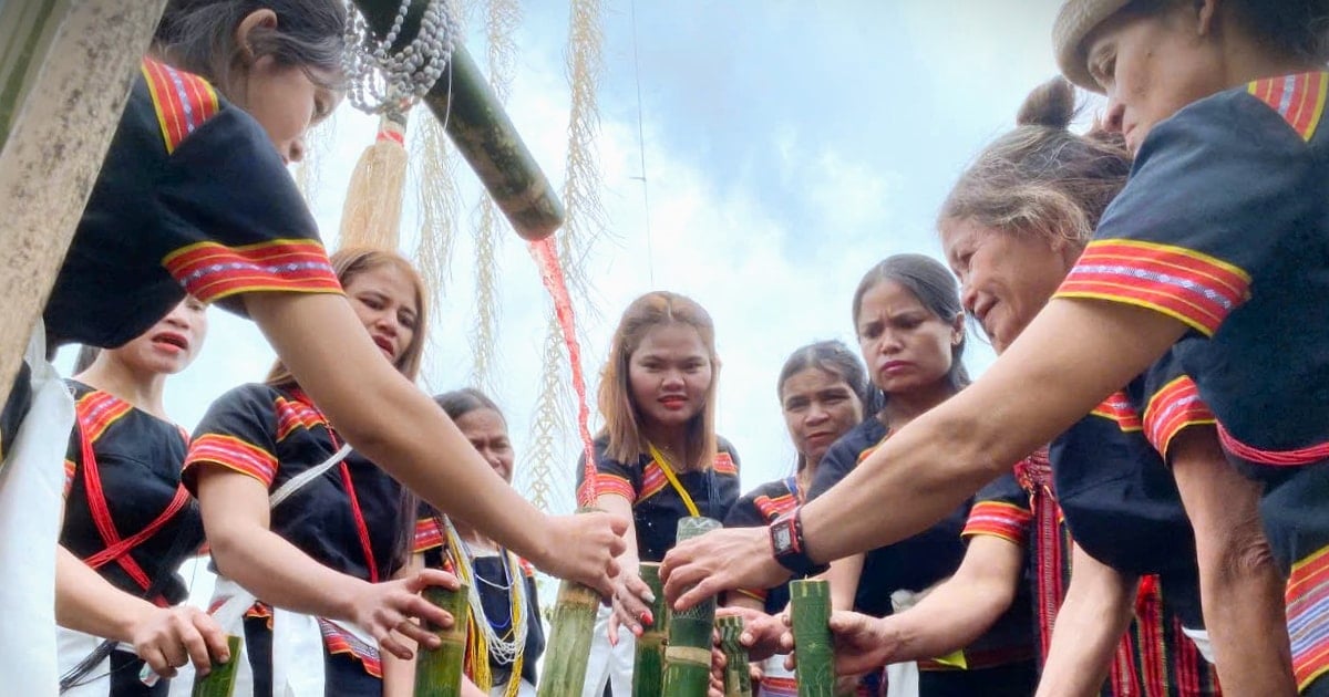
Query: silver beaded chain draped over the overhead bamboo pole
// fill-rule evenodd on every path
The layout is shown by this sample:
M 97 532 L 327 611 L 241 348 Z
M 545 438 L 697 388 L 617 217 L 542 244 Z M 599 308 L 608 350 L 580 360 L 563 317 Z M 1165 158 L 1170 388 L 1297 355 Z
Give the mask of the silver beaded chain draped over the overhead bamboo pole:
M 447 0 L 429 0 L 420 16 L 420 31 L 400 50 L 392 45 L 401 35 L 411 0 L 401 0 L 392 28 L 380 41 L 369 23 L 347 0 L 346 68 L 347 98 L 368 114 L 404 114 L 433 88 L 452 60 L 461 36 L 457 13 Z

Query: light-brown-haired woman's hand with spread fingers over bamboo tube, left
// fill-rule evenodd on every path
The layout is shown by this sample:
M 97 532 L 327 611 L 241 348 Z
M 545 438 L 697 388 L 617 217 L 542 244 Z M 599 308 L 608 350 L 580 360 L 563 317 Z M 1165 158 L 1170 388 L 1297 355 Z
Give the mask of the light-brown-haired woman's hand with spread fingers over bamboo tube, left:
M 429 585 L 456 591 L 457 578 L 437 568 L 423 568 L 396 580 L 364 583 L 350 599 L 350 619 L 368 632 L 383 651 L 401 660 L 411 660 L 415 653 L 397 641 L 392 632 L 428 647 L 439 648 L 439 637 L 425 627 L 412 621 L 419 617 L 427 624 L 451 628 L 453 617 L 443 608 L 429 603 L 420 595 Z

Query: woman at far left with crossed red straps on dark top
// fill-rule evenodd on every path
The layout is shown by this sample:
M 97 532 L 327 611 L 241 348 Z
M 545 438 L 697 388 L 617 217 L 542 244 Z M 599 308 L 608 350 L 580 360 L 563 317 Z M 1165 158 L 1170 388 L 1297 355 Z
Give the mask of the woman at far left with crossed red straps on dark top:
M 187 297 L 142 336 L 96 352 L 69 381 L 77 425 L 65 461 L 65 523 L 56 567 L 64 694 L 161 696 L 146 662 L 171 676 L 226 656 L 221 628 L 185 600 L 179 564 L 203 542 L 181 487 L 189 438 L 162 401 L 207 336 L 206 307 Z M 86 632 L 86 633 L 85 633 Z M 114 640 L 126 648 L 118 648 Z

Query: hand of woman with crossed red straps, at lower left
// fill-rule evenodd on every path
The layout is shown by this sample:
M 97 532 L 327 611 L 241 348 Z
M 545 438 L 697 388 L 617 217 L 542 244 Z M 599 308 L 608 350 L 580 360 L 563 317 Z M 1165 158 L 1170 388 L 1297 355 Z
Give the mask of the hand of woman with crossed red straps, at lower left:
M 231 660 L 226 632 L 202 609 L 191 605 L 158 608 L 148 605 L 129 631 L 134 653 L 161 677 L 175 677 L 175 669 L 194 664 L 206 676 L 217 662 Z

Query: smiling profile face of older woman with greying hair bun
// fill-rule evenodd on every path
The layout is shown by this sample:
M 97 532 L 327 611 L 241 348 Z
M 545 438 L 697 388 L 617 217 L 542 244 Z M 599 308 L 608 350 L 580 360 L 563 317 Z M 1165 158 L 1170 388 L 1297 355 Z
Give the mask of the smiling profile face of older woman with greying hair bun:
M 1075 264 L 1079 248 L 971 220 L 946 220 L 941 244 L 960 279 L 960 300 L 997 353 L 1025 331 Z

